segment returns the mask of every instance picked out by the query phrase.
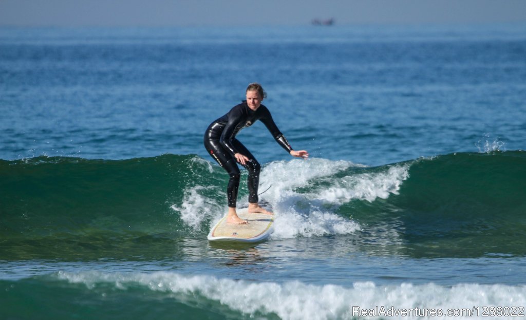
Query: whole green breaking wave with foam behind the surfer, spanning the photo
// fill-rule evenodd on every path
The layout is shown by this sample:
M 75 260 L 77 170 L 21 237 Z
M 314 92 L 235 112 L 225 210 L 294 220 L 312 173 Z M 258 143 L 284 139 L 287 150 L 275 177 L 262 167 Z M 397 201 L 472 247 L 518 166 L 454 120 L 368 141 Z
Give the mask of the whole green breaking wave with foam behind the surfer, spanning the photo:
M 0 161 L 0 177 L 0 241 L 11 258 L 155 252 L 202 238 L 226 209 L 228 175 L 195 155 L 35 157 Z M 526 254 L 523 151 L 378 167 L 294 159 L 268 163 L 260 181 L 260 198 L 277 213 L 273 239 L 348 236 L 363 249 L 424 256 Z M 246 195 L 242 184 L 241 205 Z

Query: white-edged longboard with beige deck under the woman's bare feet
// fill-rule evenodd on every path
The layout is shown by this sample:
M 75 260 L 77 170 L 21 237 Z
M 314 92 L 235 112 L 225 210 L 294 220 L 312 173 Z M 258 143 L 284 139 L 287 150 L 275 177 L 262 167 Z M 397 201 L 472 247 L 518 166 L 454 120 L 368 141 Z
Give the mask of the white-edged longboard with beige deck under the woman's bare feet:
M 248 224 L 230 224 L 224 216 L 210 229 L 208 241 L 258 242 L 274 231 L 274 215 L 248 213 L 248 208 L 238 209 L 237 215 Z

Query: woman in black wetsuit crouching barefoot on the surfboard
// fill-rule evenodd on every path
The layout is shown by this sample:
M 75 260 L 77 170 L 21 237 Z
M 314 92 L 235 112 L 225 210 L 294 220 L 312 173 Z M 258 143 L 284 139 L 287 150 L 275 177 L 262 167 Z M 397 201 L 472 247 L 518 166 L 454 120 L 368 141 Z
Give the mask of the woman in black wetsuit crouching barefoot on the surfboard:
M 254 124 L 257 120 L 265 124 L 278 144 L 291 156 L 308 158 L 305 150 L 295 151 L 281 134 L 272 120 L 267 107 L 261 102 L 267 97 L 266 92 L 258 83 L 251 83 L 246 90 L 246 100 L 236 105 L 224 116 L 212 122 L 205 132 L 205 148 L 208 153 L 224 168 L 230 179 L 227 187 L 228 214 L 227 222 L 246 224 L 236 212 L 237 192 L 239 188 L 240 171 L 236 163 L 244 166 L 248 171 L 248 212 L 272 214 L 259 206 L 258 187 L 261 165 L 248 149 L 236 139 L 242 128 Z

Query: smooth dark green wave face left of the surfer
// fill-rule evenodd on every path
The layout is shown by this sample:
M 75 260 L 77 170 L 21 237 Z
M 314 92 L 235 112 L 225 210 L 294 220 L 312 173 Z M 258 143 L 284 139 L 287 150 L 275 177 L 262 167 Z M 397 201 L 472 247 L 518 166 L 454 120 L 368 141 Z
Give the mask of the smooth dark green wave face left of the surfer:
M 14 259 L 156 252 L 191 232 L 170 205 L 187 188 L 224 184 L 219 169 L 191 155 L 0 161 L 0 241 Z

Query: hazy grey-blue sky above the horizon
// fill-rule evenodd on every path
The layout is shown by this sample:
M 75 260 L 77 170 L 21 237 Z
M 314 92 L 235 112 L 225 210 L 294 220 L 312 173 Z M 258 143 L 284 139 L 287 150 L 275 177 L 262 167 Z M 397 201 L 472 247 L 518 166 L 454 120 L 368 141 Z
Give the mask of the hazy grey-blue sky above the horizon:
M 526 22 L 526 0 L 0 0 L 0 25 L 186 26 Z

